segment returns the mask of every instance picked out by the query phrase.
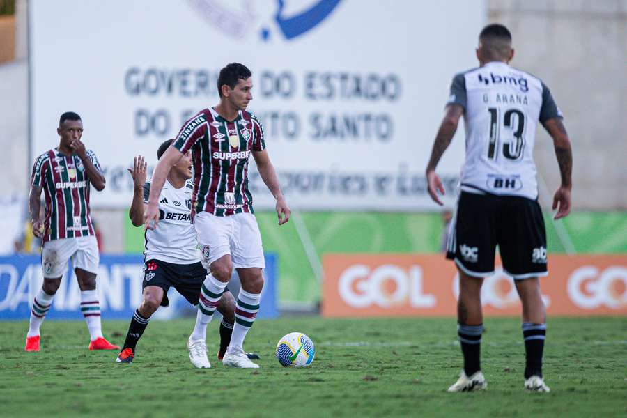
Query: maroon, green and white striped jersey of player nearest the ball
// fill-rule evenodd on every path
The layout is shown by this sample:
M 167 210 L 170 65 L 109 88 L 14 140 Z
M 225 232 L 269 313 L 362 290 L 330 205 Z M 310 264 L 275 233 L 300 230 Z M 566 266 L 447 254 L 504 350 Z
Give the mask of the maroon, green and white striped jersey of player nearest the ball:
M 192 150 L 192 213 L 254 212 L 248 160 L 251 151 L 265 149 L 265 141 L 263 127 L 253 114 L 240 111 L 235 121 L 227 121 L 214 109 L 204 109 L 185 122 L 173 146 L 184 154 Z

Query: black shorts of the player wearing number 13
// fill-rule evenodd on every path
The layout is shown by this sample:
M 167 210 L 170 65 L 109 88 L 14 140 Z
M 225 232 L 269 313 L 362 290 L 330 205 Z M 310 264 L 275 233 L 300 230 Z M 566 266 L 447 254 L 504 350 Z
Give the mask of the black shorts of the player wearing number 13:
M 493 274 L 497 245 L 503 270 L 514 279 L 547 274 L 546 231 L 537 201 L 461 192 L 450 231 L 447 258 L 470 276 Z

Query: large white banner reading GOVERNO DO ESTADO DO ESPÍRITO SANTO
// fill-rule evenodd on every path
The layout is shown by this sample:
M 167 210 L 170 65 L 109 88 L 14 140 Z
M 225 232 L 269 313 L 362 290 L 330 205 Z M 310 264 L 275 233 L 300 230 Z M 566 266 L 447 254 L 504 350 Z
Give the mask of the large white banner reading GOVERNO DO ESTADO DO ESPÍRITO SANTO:
M 217 104 L 217 73 L 253 72 L 288 203 L 301 209 L 435 209 L 424 185 L 448 88 L 476 65 L 483 1 L 32 0 L 31 156 L 76 111 L 106 171 L 94 207 L 127 207 L 126 168 Z M 438 171 L 449 203 L 463 132 Z M 274 208 L 255 170 L 256 208 Z

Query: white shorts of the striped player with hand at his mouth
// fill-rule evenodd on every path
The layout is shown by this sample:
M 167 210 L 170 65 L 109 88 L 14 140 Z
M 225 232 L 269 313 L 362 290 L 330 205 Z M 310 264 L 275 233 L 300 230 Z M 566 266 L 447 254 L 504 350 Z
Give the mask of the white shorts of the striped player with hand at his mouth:
M 68 261 L 72 266 L 98 274 L 98 242 L 95 236 L 61 238 L 44 243 L 41 250 L 41 267 L 46 279 L 56 279 L 68 271 Z

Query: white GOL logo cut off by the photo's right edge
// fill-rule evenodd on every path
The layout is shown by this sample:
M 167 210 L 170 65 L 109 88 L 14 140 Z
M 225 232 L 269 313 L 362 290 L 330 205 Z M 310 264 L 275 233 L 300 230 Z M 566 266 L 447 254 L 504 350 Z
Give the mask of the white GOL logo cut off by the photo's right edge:
M 595 309 L 601 305 L 621 308 L 627 305 L 627 268 L 613 265 L 600 271 L 584 265 L 568 278 L 568 296 L 580 308 Z

